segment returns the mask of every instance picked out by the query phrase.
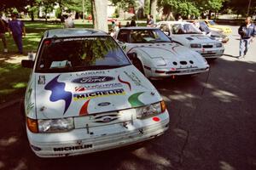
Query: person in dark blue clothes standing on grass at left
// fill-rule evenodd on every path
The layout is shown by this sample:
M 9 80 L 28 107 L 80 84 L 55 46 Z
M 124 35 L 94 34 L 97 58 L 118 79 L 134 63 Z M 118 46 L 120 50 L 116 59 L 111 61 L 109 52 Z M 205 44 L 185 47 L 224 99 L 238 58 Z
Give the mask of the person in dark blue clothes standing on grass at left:
M 9 34 L 13 36 L 19 53 L 23 54 L 22 35 L 26 37 L 25 26 L 21 20 L 17 20 L 17 14 L 12 14 L 11 18 L 12 20 L 9 20 Z

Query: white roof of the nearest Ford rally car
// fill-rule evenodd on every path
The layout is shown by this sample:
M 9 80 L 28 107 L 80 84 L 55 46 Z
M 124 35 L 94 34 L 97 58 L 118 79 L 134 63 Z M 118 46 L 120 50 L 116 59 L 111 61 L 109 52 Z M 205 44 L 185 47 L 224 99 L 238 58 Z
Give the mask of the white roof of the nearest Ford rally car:
M 44 38 L 108 36 L 104 31 L 88 28 L 54 29 L 44 32 Z

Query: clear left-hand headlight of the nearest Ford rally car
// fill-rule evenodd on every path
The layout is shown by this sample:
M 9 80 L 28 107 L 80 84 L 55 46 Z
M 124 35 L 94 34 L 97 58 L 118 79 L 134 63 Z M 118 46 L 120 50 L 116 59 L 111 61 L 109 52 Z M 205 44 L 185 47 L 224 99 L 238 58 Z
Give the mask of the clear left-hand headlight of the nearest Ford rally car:
M 61 133 L 74 128 L 73 117 L 62 119 L 38 120 L 39 133 Z

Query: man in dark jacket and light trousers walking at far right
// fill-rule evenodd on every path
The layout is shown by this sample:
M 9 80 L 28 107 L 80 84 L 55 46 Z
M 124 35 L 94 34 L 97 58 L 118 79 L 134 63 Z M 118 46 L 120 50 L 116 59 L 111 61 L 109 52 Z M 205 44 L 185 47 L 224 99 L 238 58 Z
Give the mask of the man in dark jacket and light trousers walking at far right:
M 240 59 L 245 57 L 250 43 L 253 42 L 253 37 L 256 36 L 256 26 L 252 23 L 251 17 L 247 17 L 245 23 L 239 27 L 238 33 L 241 36 L 238 57 Z

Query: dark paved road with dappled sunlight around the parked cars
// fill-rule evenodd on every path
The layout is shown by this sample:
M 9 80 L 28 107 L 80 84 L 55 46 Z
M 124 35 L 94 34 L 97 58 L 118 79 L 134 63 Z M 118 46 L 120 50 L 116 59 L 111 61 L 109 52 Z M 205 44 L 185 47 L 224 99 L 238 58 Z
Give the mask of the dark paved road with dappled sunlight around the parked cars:
M 256 169 L 256 42 L 238 54 L 237 27 L 225 56 L 193 78 L 154 82 L 171 128 L 143 145 L 42 160 L 20 137 L 19 105 L 0 111 L 0 169 Z

